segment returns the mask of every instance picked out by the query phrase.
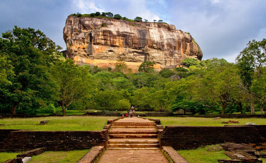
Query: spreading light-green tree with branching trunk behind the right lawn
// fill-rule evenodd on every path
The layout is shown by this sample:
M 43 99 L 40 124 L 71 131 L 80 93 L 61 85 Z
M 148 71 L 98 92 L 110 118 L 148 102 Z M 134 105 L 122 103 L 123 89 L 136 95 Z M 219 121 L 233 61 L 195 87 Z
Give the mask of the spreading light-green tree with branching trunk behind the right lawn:
M 231 63 L 219 66 L 208 71 L 203 78 L 196 80 L 198 89 L 195 97 L 205 106 L 218 105 L 222 107 L 222 115 L 225 114 L 227 102 L 232 100 L 232 92 L 238 83 L 237 68 Z

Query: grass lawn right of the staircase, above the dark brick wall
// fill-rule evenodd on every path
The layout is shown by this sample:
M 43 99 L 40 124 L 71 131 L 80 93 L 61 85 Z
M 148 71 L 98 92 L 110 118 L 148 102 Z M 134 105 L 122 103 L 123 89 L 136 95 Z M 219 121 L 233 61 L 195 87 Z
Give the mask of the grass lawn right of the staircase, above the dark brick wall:
M 247 122 L 256 123 L 257 125 L 266 125 L 264 118 L 197 118 L 197 117 L 147 117 L 160 119 L 163 126 L 224 126 L 224 125 L 245 125 Z M 239 123 L 222 124 L 223 121 L 239 121 Z

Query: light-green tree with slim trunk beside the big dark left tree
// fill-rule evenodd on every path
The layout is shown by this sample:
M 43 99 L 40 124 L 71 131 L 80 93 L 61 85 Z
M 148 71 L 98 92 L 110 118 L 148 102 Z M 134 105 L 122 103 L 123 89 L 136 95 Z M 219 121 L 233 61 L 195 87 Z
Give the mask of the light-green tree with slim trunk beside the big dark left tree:
M 58 61 L 51 67 L 51 75 L 55 82 L 54 89 L 57 98 L 61 102 L 63 116 L 67 106 L 90 96 L 94 87 L 89 68 L 74 65 L 72 59 Z

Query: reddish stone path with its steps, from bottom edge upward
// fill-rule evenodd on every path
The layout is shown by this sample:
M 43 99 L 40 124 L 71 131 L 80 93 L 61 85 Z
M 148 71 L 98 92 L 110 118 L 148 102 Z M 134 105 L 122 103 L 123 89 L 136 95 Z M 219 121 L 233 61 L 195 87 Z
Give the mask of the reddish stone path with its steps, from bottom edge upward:
M 98 163 L 167 163 L 159 148 L 155 125 L 137 117 L 113 122 L 106 151 Z

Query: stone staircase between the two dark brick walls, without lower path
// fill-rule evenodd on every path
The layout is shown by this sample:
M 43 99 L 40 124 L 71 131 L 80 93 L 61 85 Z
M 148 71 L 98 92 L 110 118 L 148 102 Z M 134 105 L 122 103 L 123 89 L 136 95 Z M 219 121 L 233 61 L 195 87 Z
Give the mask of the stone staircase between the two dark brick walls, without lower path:
M 155 126 L 154 122 L 137 117 L 113 122 L 107 149 L 159 149 Z

